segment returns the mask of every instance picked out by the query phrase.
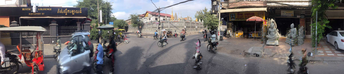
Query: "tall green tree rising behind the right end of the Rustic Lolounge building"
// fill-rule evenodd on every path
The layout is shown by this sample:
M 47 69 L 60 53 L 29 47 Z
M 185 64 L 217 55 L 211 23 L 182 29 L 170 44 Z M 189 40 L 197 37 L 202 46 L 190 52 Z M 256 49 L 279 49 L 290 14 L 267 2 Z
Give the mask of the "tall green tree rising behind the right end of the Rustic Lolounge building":
M 97 8 L 97 0 L 78 0 L 78 4 L 74 5 L 74 7 L 78 8 L 88 8 L 88 18 L 98 20 L 98 8 Z M 99 0 L 99 10 L 102 10 L 103 21 L 105 20 L 109 22 L 111 20 L 111 10 L 113 10 L 112 5 L 110 2 L 106 2 L 104 0 Z

